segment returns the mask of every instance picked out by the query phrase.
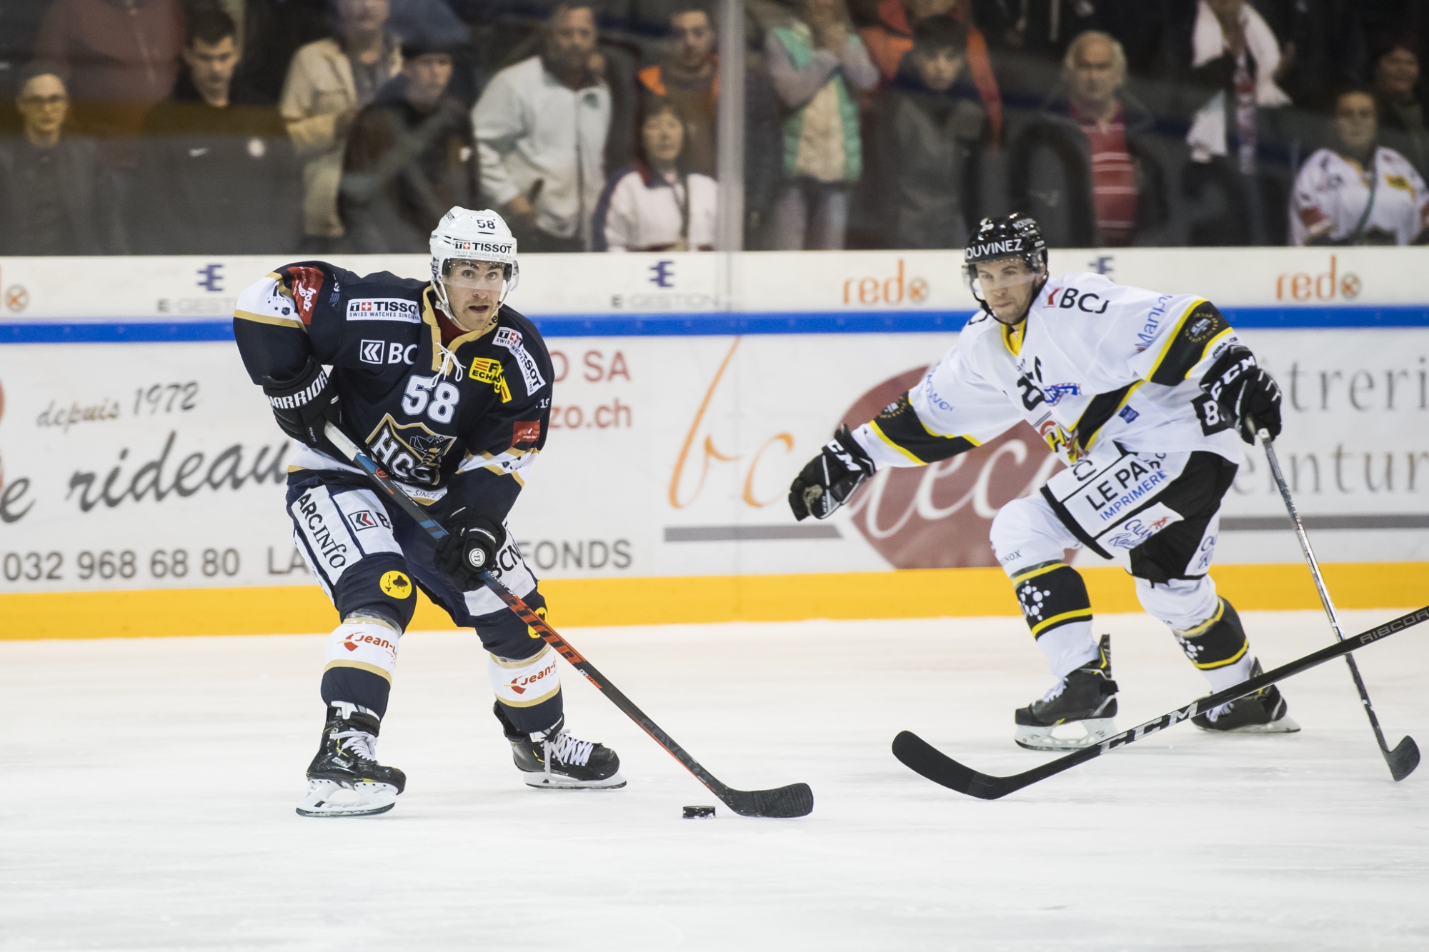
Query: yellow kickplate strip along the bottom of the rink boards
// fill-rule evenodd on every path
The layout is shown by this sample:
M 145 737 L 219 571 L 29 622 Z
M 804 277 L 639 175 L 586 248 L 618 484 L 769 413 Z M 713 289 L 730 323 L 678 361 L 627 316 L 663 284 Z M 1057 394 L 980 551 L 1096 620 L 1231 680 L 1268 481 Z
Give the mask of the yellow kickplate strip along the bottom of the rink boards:
M 1429 596 L 1429 562 L 1332 563 L 1325 577 L 1345 609 L 1413 608 Z M 1119 567 L 1077 569 L 1095 612 L 1139 612 L 1132 579 Z M 1318 609 L 1303 565 L 1212 569 L 1243 612 Z M 560 626 L 710 622 L 792 622 L 1019 615 L 1000 569 L 903 569 L 820 575 L 547 579 L 542 592 Z M 0 640 L 47 638 L 173 638 L 329 632 L 333 606 L 316 586 L 141 589 L 0 595 Z M 417 596 L 413 630 L 453 629 Z

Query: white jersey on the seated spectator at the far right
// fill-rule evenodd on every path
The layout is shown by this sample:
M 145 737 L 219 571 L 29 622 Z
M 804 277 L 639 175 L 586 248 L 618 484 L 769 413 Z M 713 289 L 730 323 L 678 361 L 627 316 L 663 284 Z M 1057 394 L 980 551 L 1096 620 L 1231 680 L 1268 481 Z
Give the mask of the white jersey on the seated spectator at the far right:
M 1295 179 L 1292 244 L 1345 242 L 1355 236 L 1356 226 L 1356 240 L 1366 244 L 1409 244 L 1429 227 L 1429 189 L 1393 149 L 1375 150 L 1373 174 L 1353 159 L 1320 149 Z

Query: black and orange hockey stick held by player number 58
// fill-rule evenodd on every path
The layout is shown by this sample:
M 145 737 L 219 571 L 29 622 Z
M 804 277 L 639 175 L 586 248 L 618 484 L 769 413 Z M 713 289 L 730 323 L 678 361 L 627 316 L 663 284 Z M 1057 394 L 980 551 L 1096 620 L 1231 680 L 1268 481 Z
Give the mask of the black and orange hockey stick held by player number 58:
M 377 483 L 387 493 L 387 496 L 402 507 L 409 516 L 416 519 L 417 525 L 426 529 L 427 535 L 433 539 L 443 539 L 449 533 L 443 529 L 432 516 L 422 510 L 412 496 L 404 493 L 400 486 L 397 486 L 387 473 L 377 466 L 377 463 L 369 456 L 363 449 L 359 449 L 356 443 L 347 439 L 347 435 L 339 430 L 332 423 L 326 427 L 327 439 L 342 450 L 343 456 L 354 462 L 357 466 L 366 472 L 373 482 Z M 813 810 L 813 790 L 809 789 L 807 783 L 790 783 L 789 786 L 780 786 L 772 790 L 736 790 L 733 788 L 722 783 L 713 773 L 700 766 L 699 760 L 692 758 L 684 752 L 684 748 L 677 745 L 670 735 L 660 729 L 657 723 L 650 720 L 643 710 L 634 706 L 634 702 L 624 696 L 619 688 L 610 683 L 610 680 L 596 670 L 596 666 L 586 660 L 584 655 L 577 652 L 570 643 L 556 633 L 550 625 L 546 623 L 543 618 L 536 615 L 526 602 L 523 602 L 516 593 L 507 589 L 497 580 L 497 577 L 490 572 L 480 573 L 482 582 L 492 592 L 496 593 L 506 608 L 516 612 L 516 615 L 530 625 L 536 632 L 540 633 L 546 643 L 554 648 L 562 658 L 570 662 L 570 666 L 586 676 L 592 685 L 596 686 L 600 693 L 610 699 L 616 708 L 623 710 L 627 718 L 634 720 L 640 728 L 650 735 L 656 743 L 664 748 L 664 752 L 680 762 L 680 765 L 694 775 L 700 783 L 707 786 L 710 792 L 720 799 L 725 806 L 735 810 L 740 816 L 806 816 Z

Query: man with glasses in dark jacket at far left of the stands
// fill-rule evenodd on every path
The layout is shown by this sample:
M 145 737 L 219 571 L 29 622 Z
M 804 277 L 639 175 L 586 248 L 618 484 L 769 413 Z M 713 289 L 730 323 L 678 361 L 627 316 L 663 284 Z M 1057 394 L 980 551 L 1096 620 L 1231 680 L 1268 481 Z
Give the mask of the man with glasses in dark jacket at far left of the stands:
M 14 101 L 23 134 L 0 144 L 0 254 L 123 254 L 113 172 L 93 140 L 64 134 L 64 80 L 31 66 Z

